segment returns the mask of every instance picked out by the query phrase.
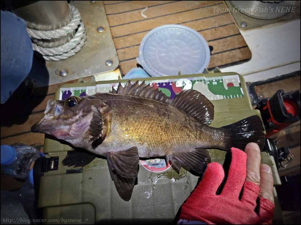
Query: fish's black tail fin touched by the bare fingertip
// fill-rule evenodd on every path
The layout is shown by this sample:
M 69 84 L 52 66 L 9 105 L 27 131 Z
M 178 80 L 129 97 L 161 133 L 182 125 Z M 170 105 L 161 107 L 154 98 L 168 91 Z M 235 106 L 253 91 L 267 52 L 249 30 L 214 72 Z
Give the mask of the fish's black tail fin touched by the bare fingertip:
M 249 116 L 222 128 L 225 128 L 231 137 L 226 146 L 227 150 L 235 147 L 244 151 L 249 142 L 255 142 L 262 150 L 265 144 L 265 129 L 259 115 Z

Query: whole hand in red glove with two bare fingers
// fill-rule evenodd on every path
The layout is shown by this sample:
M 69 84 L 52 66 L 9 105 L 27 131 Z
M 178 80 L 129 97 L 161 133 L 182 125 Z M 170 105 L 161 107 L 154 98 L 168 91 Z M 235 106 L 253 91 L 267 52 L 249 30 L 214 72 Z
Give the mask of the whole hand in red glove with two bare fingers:
M 271 169 L 260 165 L 260 150 L 255 143 L 249 143 L 245 152 L 232 148 L 224 168 L 215 162 L 208 164 L 201 182 L 182 205 L 178 224 L 272 223 L 275 205 Z

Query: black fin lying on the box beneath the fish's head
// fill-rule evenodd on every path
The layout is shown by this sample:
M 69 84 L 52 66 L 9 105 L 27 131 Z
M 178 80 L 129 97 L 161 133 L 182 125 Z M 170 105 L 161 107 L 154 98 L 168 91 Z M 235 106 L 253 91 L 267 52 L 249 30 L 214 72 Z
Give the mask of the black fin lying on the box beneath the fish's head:
M 68 151 L 67 156 L 63 159 L 64 166 L 85 166 L 90 163 L 96 155 L 85 150 Z

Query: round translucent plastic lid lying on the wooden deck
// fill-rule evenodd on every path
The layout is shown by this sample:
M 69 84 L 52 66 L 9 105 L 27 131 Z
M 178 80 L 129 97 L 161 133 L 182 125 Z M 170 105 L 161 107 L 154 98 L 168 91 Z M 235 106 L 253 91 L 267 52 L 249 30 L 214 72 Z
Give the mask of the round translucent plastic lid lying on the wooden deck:
M 210 50 L 194 29 L 163 25 L 146 34 L 136 59 L 152 77 L 199 74 L 209 65 Z

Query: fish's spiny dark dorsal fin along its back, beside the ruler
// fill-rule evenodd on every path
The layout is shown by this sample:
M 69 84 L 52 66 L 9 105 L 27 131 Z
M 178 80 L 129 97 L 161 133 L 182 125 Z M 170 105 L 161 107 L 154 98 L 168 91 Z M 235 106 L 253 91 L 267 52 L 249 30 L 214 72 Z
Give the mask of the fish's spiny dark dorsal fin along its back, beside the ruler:
M 214 117 L 213 104 L 196 90 L 183 90 L 176 97 L 170 99 L 162 91 L 151 87 L 150 84 L 145 86 L 144 81 L 140 85 L 138 81 L 132 85 L 129 80 L 125 87 L 119 83 L 117 90 L 113 88 L 112 93 L 148 98 L 175 106 L 206 125 L 211 124 Z

